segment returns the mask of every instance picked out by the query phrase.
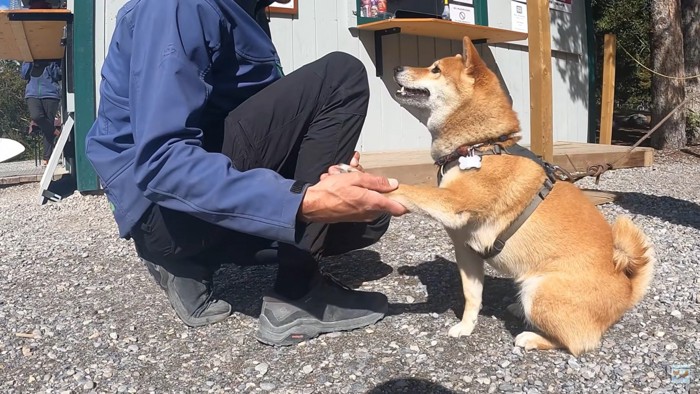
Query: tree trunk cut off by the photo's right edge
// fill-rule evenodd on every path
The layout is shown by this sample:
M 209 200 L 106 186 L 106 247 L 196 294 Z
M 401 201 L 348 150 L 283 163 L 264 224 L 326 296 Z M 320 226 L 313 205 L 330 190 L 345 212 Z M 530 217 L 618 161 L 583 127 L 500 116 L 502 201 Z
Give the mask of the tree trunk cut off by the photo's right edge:
M 685 75 L 700 75 L 700 0 L 681 0 Z M 700 78 L 685 80 L 688 143 L 700 144 Z

